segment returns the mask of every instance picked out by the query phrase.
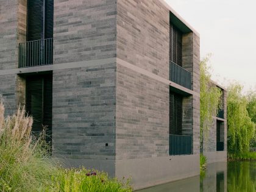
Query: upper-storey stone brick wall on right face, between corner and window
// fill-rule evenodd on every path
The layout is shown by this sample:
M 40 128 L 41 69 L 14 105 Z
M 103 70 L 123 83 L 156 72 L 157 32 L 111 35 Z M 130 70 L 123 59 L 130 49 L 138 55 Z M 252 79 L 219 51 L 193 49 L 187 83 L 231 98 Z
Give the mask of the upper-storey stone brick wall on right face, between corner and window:
M 117 7 L 117 57 L 169 79 L 169 10 L 152 0 Z

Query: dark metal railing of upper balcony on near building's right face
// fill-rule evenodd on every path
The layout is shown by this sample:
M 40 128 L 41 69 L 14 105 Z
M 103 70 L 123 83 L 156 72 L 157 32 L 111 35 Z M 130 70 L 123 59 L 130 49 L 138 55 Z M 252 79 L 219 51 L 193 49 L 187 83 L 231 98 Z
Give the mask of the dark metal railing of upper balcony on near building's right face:
M 191 73 L 170 61 L 170 80 L 191 90 Z

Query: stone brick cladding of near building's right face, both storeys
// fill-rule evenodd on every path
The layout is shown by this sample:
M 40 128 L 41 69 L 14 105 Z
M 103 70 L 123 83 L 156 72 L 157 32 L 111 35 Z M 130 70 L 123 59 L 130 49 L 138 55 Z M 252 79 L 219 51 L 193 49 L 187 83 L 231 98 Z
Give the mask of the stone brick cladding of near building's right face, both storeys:
M 118 1 L 117 58 L 169 80 L 169 10 L 160 1 Z M 184 68 L 197 93 L 183 100 L 183 133 L 199 154 L 199 37 L 183 35 Z M 117 63 L 116 159 L 169 155 L 169 85 Z

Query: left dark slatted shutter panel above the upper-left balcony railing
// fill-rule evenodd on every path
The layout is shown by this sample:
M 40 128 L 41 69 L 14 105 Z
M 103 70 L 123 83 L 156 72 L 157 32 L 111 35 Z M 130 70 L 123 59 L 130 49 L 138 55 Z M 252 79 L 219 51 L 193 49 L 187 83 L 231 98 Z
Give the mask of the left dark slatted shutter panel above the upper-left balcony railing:
M 27 41 L 43 39 L 43 0 L 27 1 Z

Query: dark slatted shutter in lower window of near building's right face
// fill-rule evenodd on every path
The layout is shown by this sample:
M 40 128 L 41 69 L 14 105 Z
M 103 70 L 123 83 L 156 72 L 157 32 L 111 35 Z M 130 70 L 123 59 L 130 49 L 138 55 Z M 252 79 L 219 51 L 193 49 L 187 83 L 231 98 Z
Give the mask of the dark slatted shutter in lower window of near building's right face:
M 182 96 L 169 93 L 169 134 L 182 135 Z

